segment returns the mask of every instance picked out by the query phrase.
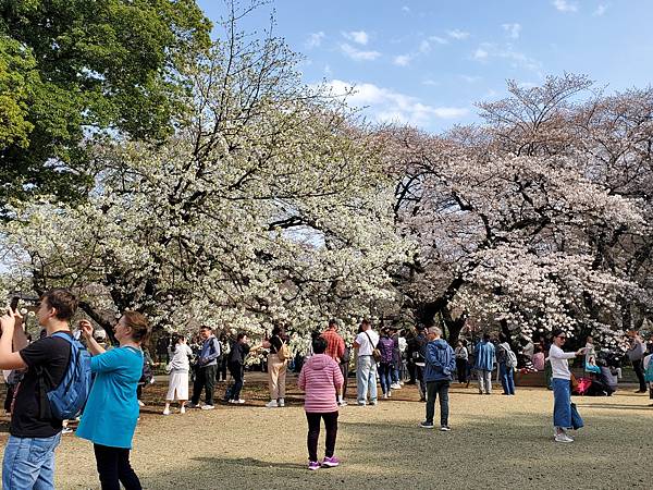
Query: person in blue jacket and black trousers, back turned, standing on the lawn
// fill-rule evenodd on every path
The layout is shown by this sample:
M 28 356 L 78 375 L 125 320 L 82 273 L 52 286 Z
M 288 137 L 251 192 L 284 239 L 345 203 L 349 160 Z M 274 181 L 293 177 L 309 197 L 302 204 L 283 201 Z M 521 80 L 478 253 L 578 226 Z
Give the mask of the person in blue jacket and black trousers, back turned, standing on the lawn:
M 433 428 L 435 399 L 440 396 L 440 430 L 448 432 L 451 430 L 448 426 L 448 389 L 456 371 L 456 354 L 441 336 L 442 330 L 438 327 L 429 327 L 424 369 L 427 418 L 420 424 L 420 427 Z

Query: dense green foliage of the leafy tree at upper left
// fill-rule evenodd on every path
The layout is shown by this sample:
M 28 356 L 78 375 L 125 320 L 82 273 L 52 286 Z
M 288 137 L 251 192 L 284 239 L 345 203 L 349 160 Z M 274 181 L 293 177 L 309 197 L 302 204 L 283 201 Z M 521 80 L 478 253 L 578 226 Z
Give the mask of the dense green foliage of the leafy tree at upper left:
M 93 136 L 169 136 L 185 63 L 210 44 L 195 0 L 0 0 L 0 216 L 15 198 L 83 198 Z

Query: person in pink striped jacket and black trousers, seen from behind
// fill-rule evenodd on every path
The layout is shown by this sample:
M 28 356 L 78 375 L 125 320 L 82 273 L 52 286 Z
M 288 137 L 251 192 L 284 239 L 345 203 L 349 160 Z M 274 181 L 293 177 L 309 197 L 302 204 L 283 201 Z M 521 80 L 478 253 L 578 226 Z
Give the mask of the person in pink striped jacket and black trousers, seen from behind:
M 308 469 L 337 466 L 340 461 L 333 455 L 337 436 L 337 403 L 335 394 L 343 384 L 340 366 L 324 354 L 326 341 L 318 336 L 312 341 L 313 355 L 306 360 L 299 373 L 298 385 L 306 392 L 304 409 L 308 420 Z M 326 451 L 321 465 L 318 462 L 318 439 L 320 419 L 326 428 Z

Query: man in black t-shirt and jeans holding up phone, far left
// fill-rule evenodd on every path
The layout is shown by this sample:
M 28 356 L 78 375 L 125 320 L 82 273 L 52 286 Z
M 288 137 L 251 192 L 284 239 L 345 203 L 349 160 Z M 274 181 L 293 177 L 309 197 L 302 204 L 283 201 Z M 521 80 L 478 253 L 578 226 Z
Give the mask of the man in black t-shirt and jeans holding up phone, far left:
M 0 368 L 26 369 L 12 403 L 11 436 L 2 463 L 5 490 L 54 488 L 54 450 L 61 441 L 62 419 L 67 417 L 53 414 L 58 404 L 46 393 L 57 391 L 67 377 L 73 353 L 70 320 L 76 309 L 77 299 L 70 291 L 45 293 L 36 317 L 47 336 L 29 345 L 17 321 L 20 314 L 8 311 L 0 318 Z M 16 352 L 12 352 L 12 341 Z M 77 347 L 75 353 L 79 354 Z M 87 375 L 89 383 L 90 370 Z

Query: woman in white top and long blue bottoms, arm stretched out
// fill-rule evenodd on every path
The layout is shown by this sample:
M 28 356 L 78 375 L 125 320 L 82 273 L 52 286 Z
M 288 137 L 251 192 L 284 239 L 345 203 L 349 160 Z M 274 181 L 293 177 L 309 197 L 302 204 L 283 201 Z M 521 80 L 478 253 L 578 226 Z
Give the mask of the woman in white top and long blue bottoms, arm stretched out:
M 563 346 L 567 341 L 567 334 L 556 329 L 553 331 L 553 344 L 549 350 L 549 360 L 552 370 L 553 385 L 553 426 L 555 442 L 574 442 L 567 433 L 567 429 L 574 427 L 571 414 L 571 372 L 569 362 L 576 356 L 582 356 L 587 348 L 577 352 L 564 352 Z

